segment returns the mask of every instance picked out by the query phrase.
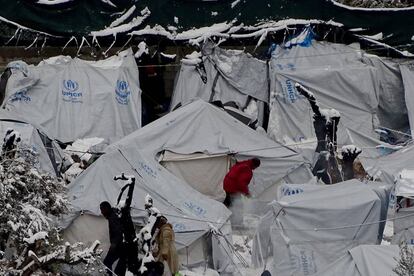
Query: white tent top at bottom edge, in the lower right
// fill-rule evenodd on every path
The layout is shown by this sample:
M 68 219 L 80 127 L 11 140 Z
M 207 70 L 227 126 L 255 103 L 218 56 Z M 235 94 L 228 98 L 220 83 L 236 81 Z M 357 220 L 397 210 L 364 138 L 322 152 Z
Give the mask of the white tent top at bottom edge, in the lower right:
M 397 245 L 360 245 L 319 272 L 319 276 L 397 275 L 399 248 Z

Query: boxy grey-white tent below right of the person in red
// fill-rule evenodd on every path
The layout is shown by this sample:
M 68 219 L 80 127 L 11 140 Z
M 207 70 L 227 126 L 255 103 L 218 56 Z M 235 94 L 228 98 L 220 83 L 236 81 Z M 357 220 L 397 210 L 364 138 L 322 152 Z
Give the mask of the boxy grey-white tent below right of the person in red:
M 379 187 L 357 180 L 303 186 L 274 201 L 262 218 L 254 240 L 256 265 L 273 256 L 272 275 L 319 275 L 347 250 L 381 241 L 388 200 Z

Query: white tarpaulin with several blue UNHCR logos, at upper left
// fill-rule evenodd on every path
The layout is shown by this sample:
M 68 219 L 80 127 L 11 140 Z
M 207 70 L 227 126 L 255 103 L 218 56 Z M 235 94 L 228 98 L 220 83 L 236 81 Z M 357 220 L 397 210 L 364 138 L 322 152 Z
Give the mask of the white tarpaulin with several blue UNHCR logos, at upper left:
M 141 91 L 132 50 L 101 61 L 54 57 L 12 70 L 3 106 L 71 142 L 102 137 L 108 143 L 141 127 Z

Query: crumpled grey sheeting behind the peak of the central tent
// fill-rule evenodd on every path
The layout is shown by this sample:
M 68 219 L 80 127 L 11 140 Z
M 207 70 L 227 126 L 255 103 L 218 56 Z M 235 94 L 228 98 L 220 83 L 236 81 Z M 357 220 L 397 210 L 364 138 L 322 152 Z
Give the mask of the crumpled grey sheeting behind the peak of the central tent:
M 171 108 L 194 99 L 236 103 L 239 109 L 250 98 L 259 101 L 259 125 L 263 123 L 263 103 L 269 102 L 267 64 L 239 50 L 224 50 L 206 43 L 202 64 L 182 62 L 171 99 Z

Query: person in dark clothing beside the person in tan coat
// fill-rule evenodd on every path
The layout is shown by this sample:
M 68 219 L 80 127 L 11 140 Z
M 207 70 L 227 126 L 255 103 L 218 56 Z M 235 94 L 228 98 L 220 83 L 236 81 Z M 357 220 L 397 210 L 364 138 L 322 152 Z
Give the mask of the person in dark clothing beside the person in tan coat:
M 121 220 L 116 209 L 112 208 L 108 201 L 101 202 L 99 207 L 102 215 L 108 220 L 109 240 L 111 242 L 103 263 L 109 268 L 107 269 L 108 275 L 113 275 L 110 270 L 112 270 L 113 263 L 118 260 L 114 272 L 118 276 L 124 276 L 126 273 L 126 256 Z

